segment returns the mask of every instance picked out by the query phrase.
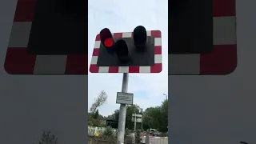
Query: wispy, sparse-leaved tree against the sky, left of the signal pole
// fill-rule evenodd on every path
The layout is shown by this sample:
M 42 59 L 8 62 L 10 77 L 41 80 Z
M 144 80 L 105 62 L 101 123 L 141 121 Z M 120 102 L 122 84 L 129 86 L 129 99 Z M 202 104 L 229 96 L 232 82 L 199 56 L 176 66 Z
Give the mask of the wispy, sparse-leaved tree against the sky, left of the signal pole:
M 102 106 L 106 103 L 107 94 L 104 90 L 98 94 L 98 97 L 94 99 L 94 103 L 90 106 L 90 113 L 94 114 L 94 112 L 98 109 L 99 106 Z

